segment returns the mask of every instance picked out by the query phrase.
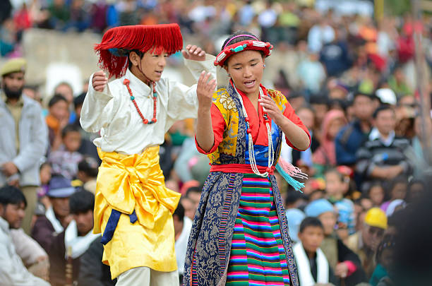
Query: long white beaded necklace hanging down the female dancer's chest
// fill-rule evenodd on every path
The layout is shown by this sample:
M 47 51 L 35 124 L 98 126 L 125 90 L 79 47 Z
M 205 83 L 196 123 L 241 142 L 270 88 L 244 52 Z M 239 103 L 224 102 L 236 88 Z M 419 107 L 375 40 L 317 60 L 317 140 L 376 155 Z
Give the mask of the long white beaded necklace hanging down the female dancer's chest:
M 233 83 L 234 85 L 234 83 Z M 274 160 L 274 154 L 273 154 L 273 141 L 272 141 L 272 133 L 270 129 L 270 119 L 268 119 L 268 115 L 264 113 L 264 121 L 265 121 L 265 127 L 267 128 L 267 135 L 268 135 L 268 167 L 265 169 L 264 173 L 261 173 L 258 170 L 258 166 L 256 165 L 256 159 L 255 159 L 255 152 L 253 151 L 253 141 L 252 141 L 252 131 L 251 127 L 249 126 L 249 118 L 248 114 L 246 112 L 246 108 L 244 107 L 243 99 L 241 98 L 241 95 L 237 91 L 236 86 L 234 85 L 234 89 L 236 90 L 236 94 L 240 99 L 241 102 L 241 109 L 243 111 L 245 121 L 246 121 L 246 133 L 248 133 L 248 150 L 249 150 L 249 162 L 251 163 L 252 171 L 257 174 L 260 177 L 268 177 L 268 174 L 271 171 L 271 167 L 273 165 Z M 263 90 L 260 88 L 260 97 L 263 96 Z

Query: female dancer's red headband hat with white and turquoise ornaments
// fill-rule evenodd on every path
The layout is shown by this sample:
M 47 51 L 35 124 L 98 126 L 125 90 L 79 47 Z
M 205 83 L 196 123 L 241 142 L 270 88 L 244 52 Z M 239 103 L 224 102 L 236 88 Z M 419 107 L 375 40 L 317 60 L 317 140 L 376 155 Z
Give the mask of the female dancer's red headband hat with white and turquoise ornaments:
M 241 42 L 236 42 L 235 44 L 230 44 L 229 46 L 225 45 L 222 52 L 220 52 L 216 56 L 215 66 L 223 66 L 224 62 L 229 58 L 229 56 L 232 56 L 232 54 L 236 54 L 238 52 L 246 51 L 248 49 L 254 51 L 261 51 L 264 53 L 264 56 L 270 56 L 270 54 L 272 54 L 273 45 L 270 44 L 270 42 L 258 41 L 256 37 L 253 37 L 251 35 L 238 35 L 236 37 L 240 36 L 248 36 L 256 40 L 244 40 Z M 231 40 L 233 40 L 234 38 L 235 37 L 233 37 Z M 229 42 L 227 42 L 227 44 L 229 44 Z

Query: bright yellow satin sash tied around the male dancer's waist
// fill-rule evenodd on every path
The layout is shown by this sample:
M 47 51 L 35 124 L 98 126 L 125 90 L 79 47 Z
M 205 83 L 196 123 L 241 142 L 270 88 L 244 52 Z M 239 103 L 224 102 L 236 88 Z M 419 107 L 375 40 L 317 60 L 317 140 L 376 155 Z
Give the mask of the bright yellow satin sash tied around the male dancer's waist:
M 140 225 L 150 230 L 158 213 L 164 211 L 160 205 L 174 213 L 181 195 L 165 186 L 159 146 L 134 155 L 97 151 L 102 165 L 97 175 L 93 232 L 102 232 L 104 211 L 109 207 L 126 215 L 135 210 Z

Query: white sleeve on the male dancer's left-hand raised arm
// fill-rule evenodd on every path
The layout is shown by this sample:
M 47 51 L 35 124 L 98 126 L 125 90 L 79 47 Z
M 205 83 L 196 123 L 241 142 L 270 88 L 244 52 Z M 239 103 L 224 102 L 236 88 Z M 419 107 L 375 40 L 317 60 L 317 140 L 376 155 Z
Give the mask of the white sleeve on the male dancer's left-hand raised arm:
M 92 86 L 90 76 L 88 93 L 85 95 L 81 109 L 80 124 L 85 131 L 99 132 L 102 127 L 107 126 L 111 121 L 119 105 L 115 104 L 115 97 L 109 90 L 107 84 L 102 92 L 96 91 Z

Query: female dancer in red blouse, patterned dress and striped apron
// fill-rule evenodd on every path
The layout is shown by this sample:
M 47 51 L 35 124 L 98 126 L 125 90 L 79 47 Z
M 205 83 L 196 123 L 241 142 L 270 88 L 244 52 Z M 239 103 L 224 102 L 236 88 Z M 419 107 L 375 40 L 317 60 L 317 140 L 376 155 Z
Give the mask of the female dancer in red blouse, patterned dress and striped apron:
M 273 172 L 282 131 L 298 150 L 311 139 L 284 95 L 260 85 L 271 50 L 236 32 L 215 60 L 229 74 L 227 88 L 213 93 L 204 73 L 198 81 L 196 145 L 211 169 L 188 242 L 184 285 L 299 285 Z

